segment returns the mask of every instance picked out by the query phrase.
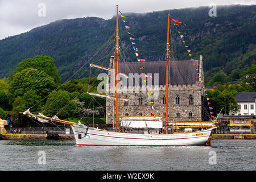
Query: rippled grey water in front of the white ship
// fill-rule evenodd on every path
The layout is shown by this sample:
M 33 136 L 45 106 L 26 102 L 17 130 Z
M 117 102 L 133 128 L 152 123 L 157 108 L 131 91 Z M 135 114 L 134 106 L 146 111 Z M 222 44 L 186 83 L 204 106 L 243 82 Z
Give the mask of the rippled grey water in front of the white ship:
M 42 153 L 45 162 L 42 163 Z M 0 140 L 0 170 L 255 170 L 256 140 L 212 146 L 88 147 L 74 140 Z M 215 157 L 216 156 L 216 157 Z

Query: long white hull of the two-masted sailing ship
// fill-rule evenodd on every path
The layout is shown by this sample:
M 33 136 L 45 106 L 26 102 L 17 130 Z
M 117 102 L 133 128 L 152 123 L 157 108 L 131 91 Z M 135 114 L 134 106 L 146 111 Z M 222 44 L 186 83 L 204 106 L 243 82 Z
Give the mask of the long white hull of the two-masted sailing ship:
M 78 146 L 184 146 L 204 145 L 214 127 L 182 134 L 136 134 L 71 126 Z M 87 129 L 88 128 L 88 129 Z M 85 135 L 86 134 L 86 135 Z

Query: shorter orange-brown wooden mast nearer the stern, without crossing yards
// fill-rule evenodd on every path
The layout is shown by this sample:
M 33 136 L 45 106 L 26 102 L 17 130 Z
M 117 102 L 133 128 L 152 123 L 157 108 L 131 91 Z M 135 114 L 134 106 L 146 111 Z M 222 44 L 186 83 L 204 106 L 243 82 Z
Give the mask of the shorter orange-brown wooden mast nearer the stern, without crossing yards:
M 168 125 L 168 78 L 169 78 L 169 24 L 170 24 L 170 15 L 168 15 L 168 25 L 167 25 L 167 43 L 166 43 L 166 133 L 167 133 L 167 125 Z

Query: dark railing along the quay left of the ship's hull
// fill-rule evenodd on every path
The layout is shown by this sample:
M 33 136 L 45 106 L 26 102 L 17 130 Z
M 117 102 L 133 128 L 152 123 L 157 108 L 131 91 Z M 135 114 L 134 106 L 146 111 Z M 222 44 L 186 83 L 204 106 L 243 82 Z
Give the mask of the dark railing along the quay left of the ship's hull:
M 6 134 L 73 134 L 71 127 L 15 127 L 6 129 Z

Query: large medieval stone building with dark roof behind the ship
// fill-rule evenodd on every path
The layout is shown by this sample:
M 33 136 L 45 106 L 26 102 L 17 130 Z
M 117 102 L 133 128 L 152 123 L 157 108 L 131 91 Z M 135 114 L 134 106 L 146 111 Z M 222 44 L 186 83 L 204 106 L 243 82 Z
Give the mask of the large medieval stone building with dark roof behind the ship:
M 112 63 L 110 63 L 110 67 L 111 65 Z M 200 56 L 200 60 L 170 61 L 169 66 L 168 121 L 202 121 L 204 118 L 204 111 L 202 111 L 204 108 L 202 56 Z M 131 99 L 130 101 L 119 100 L 119 116 L 157 115 L 163 116 L 164 120 L 166 114 L 166 61 L 119 63 L 119 72 L 126 75 L 138 73 L 141 76 L 137 80 L 138 84 L 135 84 L 135 78 L 130 85 L 127 81 L 127 87 L 124 87 L 127 92 L 123 88 L 119 89 L 119 97 Z M 145 75 L 153 77 L 145 77 Z M 142 86 L 151 81 L 157 91 L 148 88 L 146 91 L 143 90 Z M 156 82 L 158 84 L 155 84 Z M 134 92 L 136 88 L 140 91 L 139 93 Z M 150 101 L 154 103 L 150 103 Z M 106 123 L 112 123 L 112 114 L 113 99 L 107 98 Z

